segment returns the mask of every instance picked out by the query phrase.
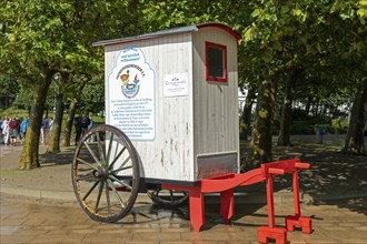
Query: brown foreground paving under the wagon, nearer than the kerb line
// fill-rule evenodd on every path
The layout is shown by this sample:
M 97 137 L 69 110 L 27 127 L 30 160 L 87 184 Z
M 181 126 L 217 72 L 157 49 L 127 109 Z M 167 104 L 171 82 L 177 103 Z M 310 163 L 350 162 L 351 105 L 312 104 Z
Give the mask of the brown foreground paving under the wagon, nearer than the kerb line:
M 224 224 L 218 205 L 206 206 L 206 225 L 195 232 L 187 207 L 163 209 L 140 203 L 122 221 L 102 224 L 90 220 L 73 202 L 36 200 L 0 194 L 0 243 L 126 243 L 126 244 L 239 244 L 258 243 L 257 227 L 267 224 L 262 204 L 237 204 L 231 224 Z M 360 211 L 349 209 L 359 205 Z M 314 233 L 288 232 L 294 243 L 367 243 L 366 200 L 344 200 L 321 205 L 302 205 L 313 217 Z M 292 206 L 276 206 L 276 222 Z

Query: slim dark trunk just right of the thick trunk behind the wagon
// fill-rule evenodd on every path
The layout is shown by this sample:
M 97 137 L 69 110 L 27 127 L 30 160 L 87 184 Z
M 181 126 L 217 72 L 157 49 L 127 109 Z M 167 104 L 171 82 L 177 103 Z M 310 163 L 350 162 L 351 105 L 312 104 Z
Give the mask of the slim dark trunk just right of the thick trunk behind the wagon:
M 280 131 L 278 145 L 287 146 L 290 143 L 290 122 L 291 122 L 291 103 L 295 94 L 295 85 L 299 71 L 296 69 L 292 75 L 286 81 L 285 99 L 281 108 Z

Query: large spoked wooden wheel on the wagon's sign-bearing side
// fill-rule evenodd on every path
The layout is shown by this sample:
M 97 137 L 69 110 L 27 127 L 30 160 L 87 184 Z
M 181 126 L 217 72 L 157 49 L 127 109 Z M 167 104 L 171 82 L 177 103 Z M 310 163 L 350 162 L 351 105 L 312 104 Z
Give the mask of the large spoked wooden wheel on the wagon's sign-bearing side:
M 97 125 L 87 135 L 72 160 L 73 191 L 92 220 L 113 223 L 128 214 L 137 199 L 138 155 L 128 136 L 115 126 Z

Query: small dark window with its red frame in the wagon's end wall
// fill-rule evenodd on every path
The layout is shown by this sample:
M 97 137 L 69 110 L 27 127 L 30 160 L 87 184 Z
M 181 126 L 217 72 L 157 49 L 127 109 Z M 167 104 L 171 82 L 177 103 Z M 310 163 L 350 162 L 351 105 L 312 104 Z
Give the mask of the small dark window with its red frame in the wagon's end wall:
M 227 82 L 226 45 L 206 42 L 205 71 L 207 81 Z

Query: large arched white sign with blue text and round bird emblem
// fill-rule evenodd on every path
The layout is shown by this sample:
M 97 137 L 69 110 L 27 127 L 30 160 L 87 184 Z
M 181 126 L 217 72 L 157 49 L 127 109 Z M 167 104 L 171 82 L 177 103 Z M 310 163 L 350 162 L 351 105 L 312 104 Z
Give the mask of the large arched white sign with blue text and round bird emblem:
M 120 51 L 108 79 L 108 124 L 117 126 L 130 140 L 156 138 L 155 71 L 139 48 Z

